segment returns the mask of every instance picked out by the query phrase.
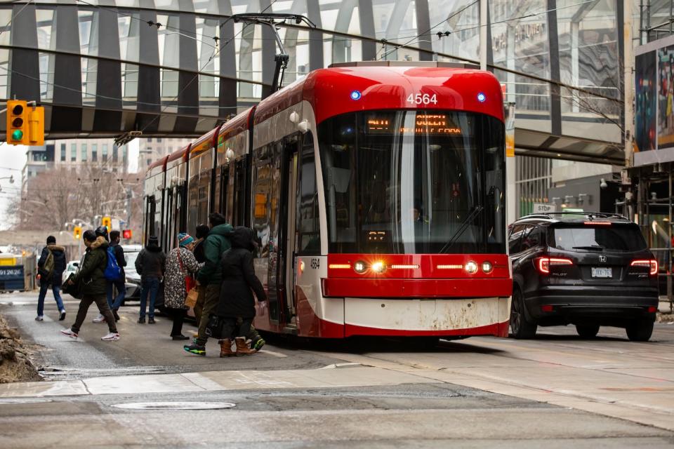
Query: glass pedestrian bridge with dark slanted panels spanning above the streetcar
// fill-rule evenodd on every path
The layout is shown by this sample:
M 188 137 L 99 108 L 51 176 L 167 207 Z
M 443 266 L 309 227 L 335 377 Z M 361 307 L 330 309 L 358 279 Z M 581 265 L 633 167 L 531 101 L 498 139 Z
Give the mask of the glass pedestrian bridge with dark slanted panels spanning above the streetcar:
M 520 154 L 620 161 L 623 11 L 611 0 L 489 0 L 487 62 L 517 105 Z M 478 64 L 480 2 L 72 0 L 0 5 L 0 97 L 39 99 L 51 137 L 197 135 L 270 92 L 268 27 L 286 23 L 284 84 L 333 62 Z

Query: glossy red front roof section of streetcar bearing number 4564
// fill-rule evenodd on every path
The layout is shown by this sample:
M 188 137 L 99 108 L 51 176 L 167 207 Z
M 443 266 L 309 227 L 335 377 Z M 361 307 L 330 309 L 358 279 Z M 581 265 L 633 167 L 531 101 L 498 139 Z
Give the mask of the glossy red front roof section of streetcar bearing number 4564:
M 428 94 L 432 101 L 418 104 L 417 94 Z M 310 72 L 262 100 L 255 112 L 255 123 L 303 100 L 312 104 L 316 123 L 338 114 L 374 109 L 462 110 L 489 114 L 503 121 L 501 83 L 491 72 L 456 67 L 357 65 Z

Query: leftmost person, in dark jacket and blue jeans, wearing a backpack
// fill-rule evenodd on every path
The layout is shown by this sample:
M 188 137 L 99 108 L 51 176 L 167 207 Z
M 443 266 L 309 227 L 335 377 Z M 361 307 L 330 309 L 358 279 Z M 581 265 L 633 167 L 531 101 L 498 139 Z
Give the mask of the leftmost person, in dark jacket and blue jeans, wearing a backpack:
M 37 297 L 37 316 L 35 321 L 44 319 L 44 298 L 51 286 L 54 294 L 56 307 L 58 307 L 58 320 L 65 320 L 65 307 L 61 299 L 61 282 L 65 271 L 65 248 L 56 244 L 55 236 L 47 237 L 47 246 L 42 248 L 40 259 L 37 262 L 37 275 L 40 280 L 40 293 Z

